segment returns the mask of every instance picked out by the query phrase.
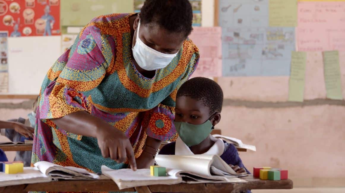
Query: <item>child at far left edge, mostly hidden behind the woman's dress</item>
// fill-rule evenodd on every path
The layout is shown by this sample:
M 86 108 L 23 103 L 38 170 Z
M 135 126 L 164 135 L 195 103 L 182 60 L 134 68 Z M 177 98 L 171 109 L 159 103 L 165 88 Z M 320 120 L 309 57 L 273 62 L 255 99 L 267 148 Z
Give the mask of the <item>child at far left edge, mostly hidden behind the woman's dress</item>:
M 25 138 L 32 140 L 36 124 L 37 100 L 38 97 L 32 105 L 32 112 L 28 114 L 28 119 L 19 117 L 9 121 L 0 120 L 1 135 L 6 136 L 12 142 L 24 142 Z M 14 161 L 22 161 L 24 167 L 29 167 L 31 164 L 31 151 L 16 152 Z

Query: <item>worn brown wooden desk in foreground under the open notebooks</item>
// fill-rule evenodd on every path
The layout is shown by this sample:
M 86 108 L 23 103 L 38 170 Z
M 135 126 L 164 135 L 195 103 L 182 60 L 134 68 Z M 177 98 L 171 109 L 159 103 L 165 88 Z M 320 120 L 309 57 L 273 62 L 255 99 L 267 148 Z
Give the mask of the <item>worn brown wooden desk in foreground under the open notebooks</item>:
M 208 184 L 175 184 L 175 185 L 150 185 L 140 186 L 119 190 L 115 182 L 111 180 L 76 180 L 76 181 L 54 181 L 37 184 L 23 184 L 16 186 L 0 187 L 3 193 L 21 193 L 27 191 L 52 191 L 52 192 L 87 192 L 87 191 L 117 191 L 117 192 L 135 192 L 151 193 L 151 192 L 186 192 L 186 193 L 238 193 L 245 190 L 255 189 L 292 189 L 293 182 L 291 180 L 260 180 L 253 178 L 252 175 L 243 177 L 247 183 L 208 183 Z

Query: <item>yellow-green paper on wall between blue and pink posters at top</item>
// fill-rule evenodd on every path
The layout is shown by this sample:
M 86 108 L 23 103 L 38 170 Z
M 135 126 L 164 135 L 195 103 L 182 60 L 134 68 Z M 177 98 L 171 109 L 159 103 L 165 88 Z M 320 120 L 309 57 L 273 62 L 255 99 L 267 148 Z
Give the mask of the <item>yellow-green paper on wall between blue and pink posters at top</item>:
M 269 26 L 296 27 L 297 0 L 269 0 Z

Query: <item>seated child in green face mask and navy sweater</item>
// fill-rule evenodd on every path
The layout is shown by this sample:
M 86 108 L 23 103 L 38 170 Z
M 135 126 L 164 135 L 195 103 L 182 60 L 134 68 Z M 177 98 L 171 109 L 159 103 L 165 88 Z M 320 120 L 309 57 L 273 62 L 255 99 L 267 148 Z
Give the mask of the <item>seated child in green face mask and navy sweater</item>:
M 187 80 L 176 95 L 175 127 L 179 136 L 159 154 L 217 154 L 237 173 L 249 173 L 236 147 L 210 134 L 220 121 L 222 105 L 223 91 L 215 81 L 203 77 Z

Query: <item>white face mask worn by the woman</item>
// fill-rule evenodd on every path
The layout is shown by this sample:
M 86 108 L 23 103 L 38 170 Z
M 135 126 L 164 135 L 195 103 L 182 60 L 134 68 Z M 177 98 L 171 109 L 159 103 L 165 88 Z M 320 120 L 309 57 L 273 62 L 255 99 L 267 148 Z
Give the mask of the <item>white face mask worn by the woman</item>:
M 140 21 L 137 29 L 135 46 L 132 47 L 133 56 L 140 68 L 144 70 L 157 70 L 168 66 L 176 54 L 164 54 L 148 47 L 139 38 Z M 134 39 L 134 38 L 133 38 Z

